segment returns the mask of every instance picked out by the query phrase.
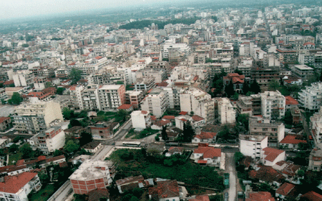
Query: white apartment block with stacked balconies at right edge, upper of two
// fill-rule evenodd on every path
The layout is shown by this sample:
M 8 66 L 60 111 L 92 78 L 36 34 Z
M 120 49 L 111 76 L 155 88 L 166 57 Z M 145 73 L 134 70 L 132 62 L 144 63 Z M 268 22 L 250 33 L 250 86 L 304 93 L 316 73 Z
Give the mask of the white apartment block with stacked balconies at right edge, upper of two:
M 298 101 L 300 106 L 316 110 L 320 108 L 322 101 L 322 82 L 312 83 L 311 86 L 306 86 L 299 92 Z

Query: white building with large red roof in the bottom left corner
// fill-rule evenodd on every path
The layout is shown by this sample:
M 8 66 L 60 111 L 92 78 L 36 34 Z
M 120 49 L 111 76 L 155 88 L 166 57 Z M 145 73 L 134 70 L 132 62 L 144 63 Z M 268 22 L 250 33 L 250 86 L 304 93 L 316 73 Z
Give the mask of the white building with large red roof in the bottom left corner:
M 0 182 L 0 199 L 3 201 L 28 201 L 32 191 L 39 191 L 41 183 L 37 173 L 24 172 L 5 177 Z

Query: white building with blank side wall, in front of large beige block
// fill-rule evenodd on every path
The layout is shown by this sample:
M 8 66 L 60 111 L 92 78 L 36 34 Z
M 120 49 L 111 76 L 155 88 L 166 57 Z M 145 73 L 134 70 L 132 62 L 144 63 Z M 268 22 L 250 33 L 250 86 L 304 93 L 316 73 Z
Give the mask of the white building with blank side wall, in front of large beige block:
M 40 132 L 30 139 L 28 143 L 33 150 L 39 149 L 44 154 L 48 155 L 56 149 L 64 147 L 65 132 L 60 126 L 53 126 L 46 131 Z

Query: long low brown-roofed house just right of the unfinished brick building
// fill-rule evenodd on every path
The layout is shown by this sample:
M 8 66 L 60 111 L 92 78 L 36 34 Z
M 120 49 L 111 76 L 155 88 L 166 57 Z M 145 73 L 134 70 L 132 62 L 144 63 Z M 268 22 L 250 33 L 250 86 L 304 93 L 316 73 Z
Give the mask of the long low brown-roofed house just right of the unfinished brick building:
M 127 177 L 125 179 L 116 180 L 116 186 L 119 192 L 122 194 L 126 191 L 133 190 L 135 188 L 143 188 L 144 178 L 142 175 L 136 177 Z

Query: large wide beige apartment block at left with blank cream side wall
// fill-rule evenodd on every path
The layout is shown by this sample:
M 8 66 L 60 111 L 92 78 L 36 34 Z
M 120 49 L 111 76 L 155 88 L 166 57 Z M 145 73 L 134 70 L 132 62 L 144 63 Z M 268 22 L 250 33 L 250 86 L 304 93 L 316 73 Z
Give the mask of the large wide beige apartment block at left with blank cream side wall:
M 29 134 L 64 120 L 59 103 L 53 101 L 20 104 L 15 107 L 12 118 L 16 130 Z

